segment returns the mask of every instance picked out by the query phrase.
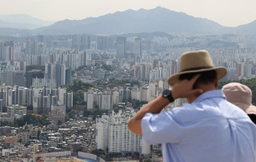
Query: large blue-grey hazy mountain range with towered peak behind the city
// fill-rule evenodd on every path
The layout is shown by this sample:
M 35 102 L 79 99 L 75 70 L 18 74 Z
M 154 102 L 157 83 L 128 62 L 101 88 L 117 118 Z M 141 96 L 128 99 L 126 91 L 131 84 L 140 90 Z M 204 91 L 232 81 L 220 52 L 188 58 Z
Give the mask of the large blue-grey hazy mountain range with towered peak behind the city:
M 0 17 L 1 19 L 1 17 Z M 26 22 L 27 23 L 27 22 Z M 31 23 L 31 22 L 30 22 Z M 225 27 L 209 19 L 197 18 L 183 12 L 175 12 L 163 7 L 154 9 L 128 9 L 99 17 L 82 20 L 57 21 L 50 26 L 33 30 L 17 30 L 26 35 L 83 34 L 118 35 L 125 33 L 165 32 L 165 33 L 238 33 L 256 34 L 256 21 L 237 26 Z M 5 28 L 5 35 L 15 33 L 15 29 Z M 0 34 L 4 34 L 0 29 Z

